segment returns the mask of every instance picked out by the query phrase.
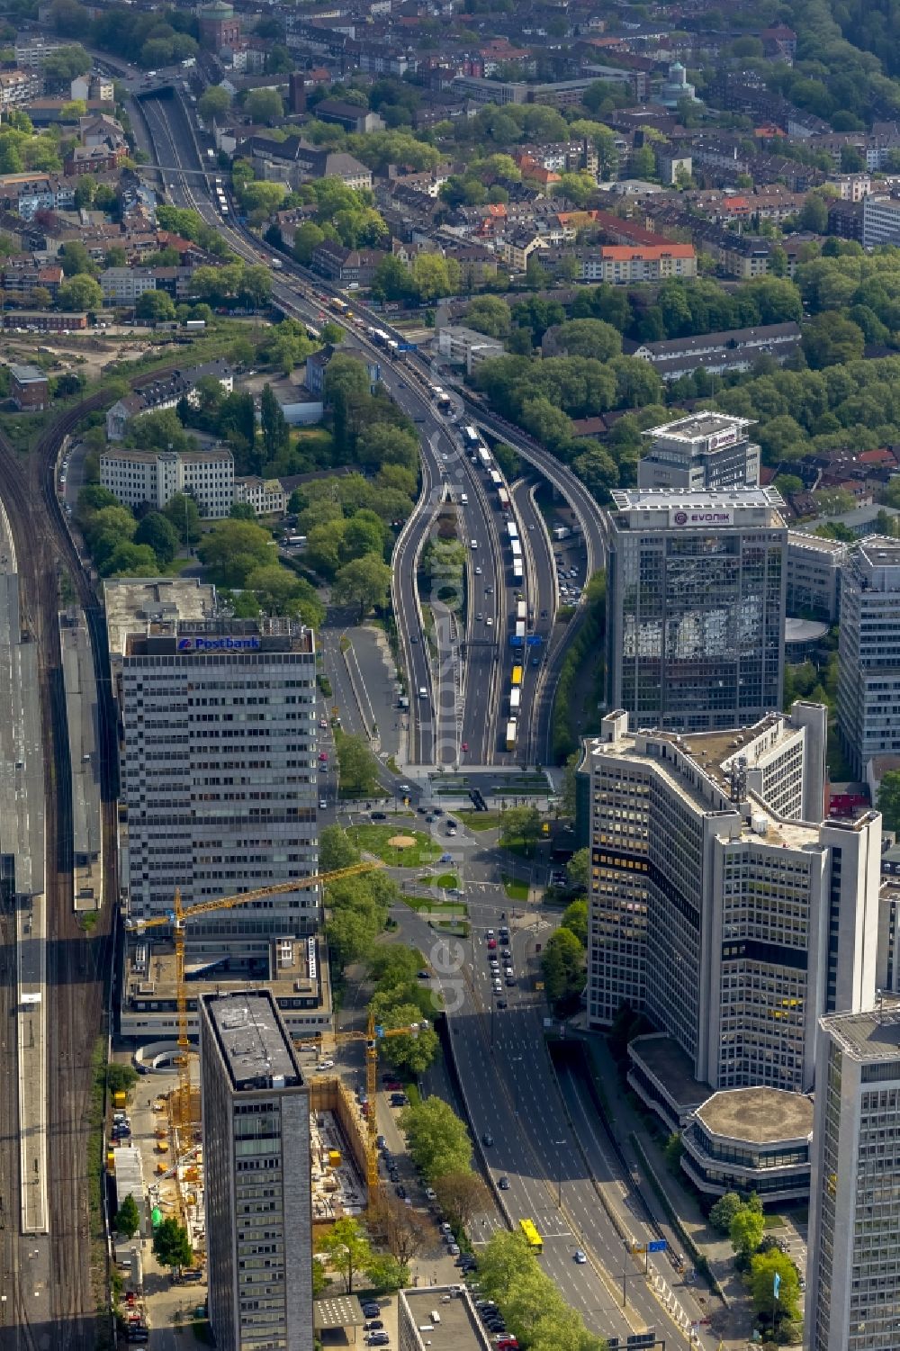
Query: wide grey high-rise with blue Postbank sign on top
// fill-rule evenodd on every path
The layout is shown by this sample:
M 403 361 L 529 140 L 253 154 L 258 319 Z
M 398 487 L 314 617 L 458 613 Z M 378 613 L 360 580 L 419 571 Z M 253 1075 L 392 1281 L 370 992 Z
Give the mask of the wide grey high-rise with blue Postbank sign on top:
M 135 921 L 168 913 L 176 886 L 192 905 L 308 877 L 318 862 L 312 631 L 215 607 L 181 620 L 153 586 L 105 584 Z M 318 892 L 297 886 L 195 920 L 188 942 L 211 966 L 239 952 L 268 970 L 270 942 L 315 932 L 319 915 Z

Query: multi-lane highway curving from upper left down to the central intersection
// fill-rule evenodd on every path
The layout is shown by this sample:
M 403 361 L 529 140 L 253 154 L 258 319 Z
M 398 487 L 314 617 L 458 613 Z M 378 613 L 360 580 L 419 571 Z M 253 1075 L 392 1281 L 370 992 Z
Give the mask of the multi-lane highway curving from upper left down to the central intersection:
M 145 96 L 139 107 L 158 162 L 173 166 L 165 174 L 170 197 L 178 205 L 199 211 L 208 223 L 215 224 L 239 255 L 255 262 L 261 257 L 268 261 L 254 236 L 222 220 L 204 184 L 181 174 L 182 169 L 185 173 L 196 173 L 201 163 L 196 136 L 181 101 L 177 97 Z M 291 281 L 285 273 L 291 274 Z M 320 278 L 312 278 L 292 262 L 282 262 L 280 274 L 273 278 L 274 301 L 285 313 L 304 322 L 320 322 L 320 307 L 328 304 L 334 290 L 335 288 Z M 507 517 L 495 503 L 482 469 L 473 465 L 464 453 L 458 427 L 454 426 L 466 416 L 462 401 L 457 419 L 447 419 L 441 413 L 427 388 L 428 367 L 418 358 L 405 363 L 385 358 L 384 350 L 373 346 L 366 335 L 369 322 L 384 327 L 384 319 L 366 311 L 355 297 L 353 308 L 354 316 L 362 320 L 354 331 L 357 345 L 377 355 L 385 388 L 420 430 L 423 490 L 418 511 L 397 542 L 392 585 L 400 644 L 409 677 L 409 763 L 423 767 L 453 767 L 462 762 L 546 763 L 546 731 L 542 732 L 541 743 L 526 736 L 515 753 L 505 751 L 504 692 L 511 666 L 511 659 L 505 655 L 505 631 L 516 592 L 508 576 Z M 511 438 L 504 432 L 504 439 Z M 578 488 L 584 499 L 585 490 L 581 485 Z M 462 501 L 464 496 L 466 501 Z M 442 500 L 455 503 L 459 535 L 469 544 L 462 616 L 447 612 L 439 594 L 441 585 L 430 585 L 432 580 L 423 577 L 418 566 Z M 477 549 L 470 547 L 469 542 L 473 539 Z M 546 567 L 546 559 L 534 578 L 535 612 L 547 609 L 553 615 L 554 578 Z M 441 582 L 441 578 L 434 581 Z M 477 619 L 478 613 L 481 619 Z M 462 628 L 459 619 L 465 626 Z M 562 640 L 568 642 L 568 634 L 564 634 Z M 554 670 L 550 666 L 542 682 L 549 688 L 549 696 Z M 419 694 L 422 689 L 427 692 L 424 697 Z M 543 723 L 547 721 L 545 716 Z M 528 719 L 528 730 L 531 725 Z

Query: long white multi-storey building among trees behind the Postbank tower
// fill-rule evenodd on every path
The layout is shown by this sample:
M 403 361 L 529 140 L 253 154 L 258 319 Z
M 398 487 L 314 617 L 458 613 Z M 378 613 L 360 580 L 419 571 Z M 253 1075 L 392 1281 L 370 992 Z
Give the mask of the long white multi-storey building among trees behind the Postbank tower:
M 161 511 L 176 493 L 195 499 L 205 520 L 222 520 L 235 501 L 234 455 L 216 450 L 127 450 L 100 454 L 100 482 L 126 507 Z

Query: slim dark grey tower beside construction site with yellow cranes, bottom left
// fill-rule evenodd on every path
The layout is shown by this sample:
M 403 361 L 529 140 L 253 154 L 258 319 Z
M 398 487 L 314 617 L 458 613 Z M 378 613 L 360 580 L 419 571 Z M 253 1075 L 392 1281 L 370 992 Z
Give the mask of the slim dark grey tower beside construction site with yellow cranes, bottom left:
M 309 1089 L 268 990 L 200 997 L 209 1324 L 312 1351 Z

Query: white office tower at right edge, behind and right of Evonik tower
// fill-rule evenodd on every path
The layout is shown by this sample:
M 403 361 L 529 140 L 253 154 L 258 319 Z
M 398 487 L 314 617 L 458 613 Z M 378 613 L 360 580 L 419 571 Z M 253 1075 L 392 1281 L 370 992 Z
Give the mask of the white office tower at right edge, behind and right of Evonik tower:
M 873 755 L 900 751 L 900 543 L 869 535 L 841 582 L 838 728 L 864 778 Z

